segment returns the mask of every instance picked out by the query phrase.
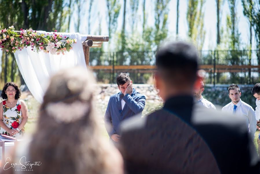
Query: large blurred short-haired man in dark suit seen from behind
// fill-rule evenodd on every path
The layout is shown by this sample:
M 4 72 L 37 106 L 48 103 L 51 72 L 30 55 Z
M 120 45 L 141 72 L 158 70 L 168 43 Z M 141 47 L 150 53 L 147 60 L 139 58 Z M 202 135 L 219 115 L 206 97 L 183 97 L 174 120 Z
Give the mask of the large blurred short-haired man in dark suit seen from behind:
M 168 43 L 158 50 L 156 66 L 155 85 L 165 104 L 146 118 L 122 125 L 120 151 L 126 170 L 218 173 L 216 161 L 221 173 L 253 171 L 256 152 L 243 120 L 193 105 L 198 70 L 195 47 Z

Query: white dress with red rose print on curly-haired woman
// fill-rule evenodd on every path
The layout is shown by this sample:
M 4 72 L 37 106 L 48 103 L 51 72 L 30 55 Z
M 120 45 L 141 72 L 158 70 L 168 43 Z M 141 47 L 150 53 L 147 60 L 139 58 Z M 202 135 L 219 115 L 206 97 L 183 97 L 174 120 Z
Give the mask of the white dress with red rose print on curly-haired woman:
M 22 117 L 22 111 L 21 111 L 21 100 L 18 99 L 16 106 L 13 108 L 9 108 L 5 102 L 3 101 L 3 123 L 11 129 L 16 129 L 18 128 L 19 124 L 21 123 L 23 117 Z M 9 133 L 6 132 L 2 127 L 0 127 L 0 133 L 1 134 L 6 134 L 9 135 Z M 24 128 L 14 135 L 13 137 L 19 138 L 23 136 L 24 134 Z

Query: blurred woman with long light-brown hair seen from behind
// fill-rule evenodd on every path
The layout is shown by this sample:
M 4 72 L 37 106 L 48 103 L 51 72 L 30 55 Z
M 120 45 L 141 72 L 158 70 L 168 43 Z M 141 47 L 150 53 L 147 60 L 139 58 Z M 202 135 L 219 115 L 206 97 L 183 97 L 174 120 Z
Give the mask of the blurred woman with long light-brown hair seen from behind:
M 121 154 L 104 137 L 102 118 L 95 114 L 93 83 L 91 73 L 86 75 L 86 69 L 79 67 L 54 75 L 43 97 L 35 132 L 30 139 L 18 142 L 2 173 L 21 170 L 21 165 L 11 166 L 19 164 L 21 157 L 37 162 L 26 169 L 38 174 L 123 173 Z M 28 173 L 24 170 L 21 173 Z

